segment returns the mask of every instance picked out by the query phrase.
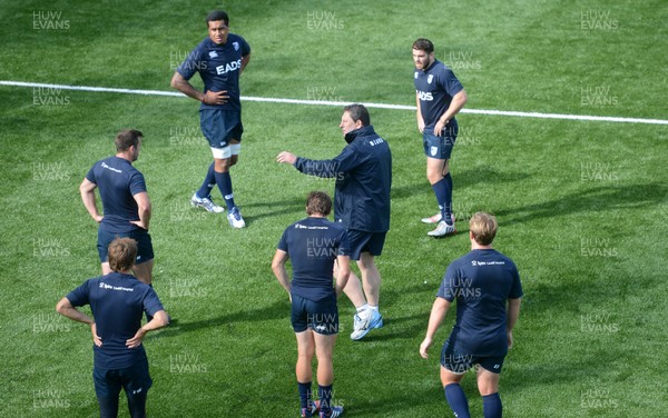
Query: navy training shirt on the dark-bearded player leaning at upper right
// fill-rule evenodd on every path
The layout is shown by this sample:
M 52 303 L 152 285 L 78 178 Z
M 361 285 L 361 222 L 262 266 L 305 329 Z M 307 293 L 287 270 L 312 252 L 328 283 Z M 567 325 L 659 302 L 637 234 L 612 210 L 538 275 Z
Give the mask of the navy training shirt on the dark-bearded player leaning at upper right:
M 450 107 L 452 98 L 464 88 L 454 72 L 439 60 L 434 60 L 424 71 L 415 69 L 413 78 L 415 79 L 415 92 L 420 97 L 420 112 L 424 120 L 424 130 L 433 131 L 439 118 Z M 451 120 L 448 125 L 452 122 Z

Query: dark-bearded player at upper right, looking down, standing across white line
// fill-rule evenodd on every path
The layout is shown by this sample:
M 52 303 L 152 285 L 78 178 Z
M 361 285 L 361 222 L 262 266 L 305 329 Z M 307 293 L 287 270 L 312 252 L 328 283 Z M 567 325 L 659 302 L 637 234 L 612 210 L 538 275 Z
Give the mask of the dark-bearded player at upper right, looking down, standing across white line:
M 454 116 L 464 107 L 468 97 L 452 70 L 434 58 L 434 44 L 429 39 L 420 38 L 413 42 L 413 62 L 418 129 L 422 132 L 426 156 L 426 179 L 439 203 L 439 213 L 422 221 L 438 223 L 428 235 L 442 237 L 455 232 L 448 161 L 459 132 Z

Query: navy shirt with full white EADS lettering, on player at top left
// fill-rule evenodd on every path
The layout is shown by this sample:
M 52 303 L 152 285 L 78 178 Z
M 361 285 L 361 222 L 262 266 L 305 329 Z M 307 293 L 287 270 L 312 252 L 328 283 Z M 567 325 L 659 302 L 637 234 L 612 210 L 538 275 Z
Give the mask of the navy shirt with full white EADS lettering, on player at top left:
M 203 40 L 176 69 L 186 80 L 199 72 L 207 91 L 227 90 L 229 99 L 223 104 L 202 103 L 200 109 L 242 110 L 239 74 L 242 57 L 250 53 L 250 46 L 238 34 L 229 33 L 227 42 L 217 44 L 210 38 Z

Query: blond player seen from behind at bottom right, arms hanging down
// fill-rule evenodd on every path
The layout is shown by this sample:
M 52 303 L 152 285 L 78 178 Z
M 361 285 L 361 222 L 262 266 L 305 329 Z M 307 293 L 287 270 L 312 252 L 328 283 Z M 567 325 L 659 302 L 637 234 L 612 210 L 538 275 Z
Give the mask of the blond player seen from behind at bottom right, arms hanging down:
M 441 350 L 441 382 L 458 418 L 468 418 L 469 401 L 460 386 L 466 370 L 477 367 L 478 390 L 485 418 L 502 416 L 499 377 L 512 329 L 520 316 L 522 283 L 514 262 L 492 249 L 497 219 L 484 212 L 469 221 L 471 252 L 452 261 L 432 307 L 420 355 L 428 358 L 436 329 L 456 300 L 456 319 Z

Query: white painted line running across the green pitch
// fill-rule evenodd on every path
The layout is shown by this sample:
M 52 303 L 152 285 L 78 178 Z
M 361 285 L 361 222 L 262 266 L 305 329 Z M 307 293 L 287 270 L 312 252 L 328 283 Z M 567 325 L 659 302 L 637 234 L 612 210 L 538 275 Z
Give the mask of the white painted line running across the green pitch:
M 61 90 L 79 90 L 79 91 L 102 91 L 102 92 L 110 92 L 110 93 L 143 94 L 143 96 L 186 97 L 185 94 L 177 92 L 177 91 L 118 89 L 118 88 L 109 88 L 109 87 L 90 87 L 90 86 L 48 84 L 48 83 L 42 83 L 42 82 L 23 82 L 23 81 L 0 80 L 0 86 L 47 88 L 47 89 L 61 89 Z M 310 104 L 310 106 L 343 107 L 343 106 L 351 103 L 348 101 L 277 99 L 277 98 L 247 97 L 247 96 L 242 96 L 242 99 L 244 101 L 288 103 L 288 104 Z M 365 102 L 362 102 L 362 104 L 366 106 L 367 108 L 376 108 L 376 109 L 415 110 L 414 106 L 365 103 Z M 600 122 L 668 125 L 668 120 L 665 120 L 665 119 L 617 118 L 617 117 L 608 117 L 608 116 L 519 112 L 519 111 L 508 111 L 508 110 L 484 110 L 484 109 L 466 109 L 466 108 L 462 109 L 461 112 L 462 113 L 473 113 L 473 115 L 511 116 L 511 117 L 518 117 L 518 118 L 567 119 L 567 120 L 600 121 Z

